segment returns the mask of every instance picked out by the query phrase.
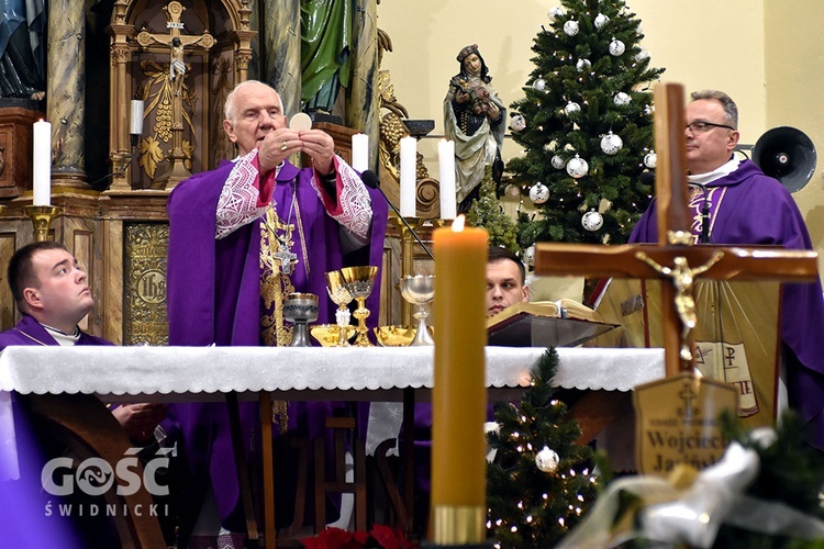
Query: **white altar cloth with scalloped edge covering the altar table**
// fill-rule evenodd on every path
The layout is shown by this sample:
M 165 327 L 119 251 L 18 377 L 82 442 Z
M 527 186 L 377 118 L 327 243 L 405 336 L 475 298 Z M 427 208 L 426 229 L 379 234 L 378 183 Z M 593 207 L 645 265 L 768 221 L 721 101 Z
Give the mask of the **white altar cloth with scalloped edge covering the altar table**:
M 554 384 L 626 393 L 665 377 L 661 349 L 558 348 Z M 491 400 L 517 400 L 543 348 L 487 347 Z M 13 448 L 9 393 L 97 395 L 105 402 L 425 401 L 433 347 L 8 347 L 0 354 L 0 437 Z M 479 372 L 479 374 L 481 374 Z M 4 396 L 3 396 L 4 395 Z M 400 406 L 400 404 L 396 404 Z M 401 414 L 371 414 L 371 446 L 398 436 Z M 266 514 L 266 511 L 265 511 Z M 266 517 L 274 524 L 274 517 Z M 270 541 L 266 537 L 267 546 Z

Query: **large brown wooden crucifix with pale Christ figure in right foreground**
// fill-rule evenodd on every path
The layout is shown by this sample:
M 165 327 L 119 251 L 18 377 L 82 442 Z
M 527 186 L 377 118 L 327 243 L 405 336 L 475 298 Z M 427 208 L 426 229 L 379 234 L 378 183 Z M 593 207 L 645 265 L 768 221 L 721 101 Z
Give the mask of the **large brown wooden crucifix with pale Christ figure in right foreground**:
M 811 282 L 817 277 L 814 251 L 765 250 L 692 245 L 688 209 L 683 88 L 658 85 L 655 90 L 658 168 L 658 245 L 535 246 L 536 274 L 658 278 L 661 284 L 662 333 L 667 376 L 693 371 L 692 328 L 695 279 Z

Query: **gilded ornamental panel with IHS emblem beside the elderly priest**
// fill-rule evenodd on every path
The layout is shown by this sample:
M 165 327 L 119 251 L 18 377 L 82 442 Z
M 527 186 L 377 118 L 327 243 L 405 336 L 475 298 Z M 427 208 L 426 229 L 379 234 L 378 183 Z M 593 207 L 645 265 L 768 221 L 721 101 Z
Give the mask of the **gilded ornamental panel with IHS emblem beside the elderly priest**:
M 168 345 L 166 255 L 169 226 L 125 225 L 123 345 Z

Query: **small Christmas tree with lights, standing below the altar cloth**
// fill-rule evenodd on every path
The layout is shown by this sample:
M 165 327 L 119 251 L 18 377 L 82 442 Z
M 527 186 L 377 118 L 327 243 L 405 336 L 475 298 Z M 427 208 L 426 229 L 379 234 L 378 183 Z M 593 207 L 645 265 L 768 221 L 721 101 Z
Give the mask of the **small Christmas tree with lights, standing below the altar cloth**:
M 499 547 L 553 547 L 598 492 L 592 450 L 576 444 L 581 429 L 554 399 L 557 369 L 558 354 L 549 349 L 520 405 L 495 410 L 500 430 L 489 435 L 497 456 L 488 468 L 487 527 Z

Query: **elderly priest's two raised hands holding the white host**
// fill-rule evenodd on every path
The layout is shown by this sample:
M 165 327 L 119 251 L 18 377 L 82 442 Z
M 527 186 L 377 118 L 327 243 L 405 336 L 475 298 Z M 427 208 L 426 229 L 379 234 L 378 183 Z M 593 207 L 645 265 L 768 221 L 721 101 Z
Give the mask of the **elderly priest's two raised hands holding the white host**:
M 335 142 L 321 130 L 296 132 L 281 127 L 269 132 L 257 143 L 260 173 L 267 173 L 296 153 L 309 155 L 314 168 L 321 175 L 330 173 L 334 169 Z

